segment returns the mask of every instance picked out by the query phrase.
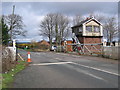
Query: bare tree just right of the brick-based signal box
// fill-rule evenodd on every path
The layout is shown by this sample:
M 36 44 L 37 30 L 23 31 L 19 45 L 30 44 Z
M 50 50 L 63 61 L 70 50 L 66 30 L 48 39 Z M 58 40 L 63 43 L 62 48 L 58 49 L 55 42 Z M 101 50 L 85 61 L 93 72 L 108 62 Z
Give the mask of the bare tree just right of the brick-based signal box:
M 107 42 L 112 42 L 117 33 L 118 24 L 116 18 L 114 16 L 106 18 L 104 24 L 104 37 L 106 37 Z

